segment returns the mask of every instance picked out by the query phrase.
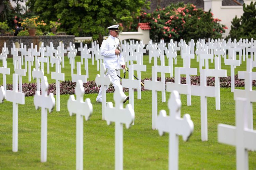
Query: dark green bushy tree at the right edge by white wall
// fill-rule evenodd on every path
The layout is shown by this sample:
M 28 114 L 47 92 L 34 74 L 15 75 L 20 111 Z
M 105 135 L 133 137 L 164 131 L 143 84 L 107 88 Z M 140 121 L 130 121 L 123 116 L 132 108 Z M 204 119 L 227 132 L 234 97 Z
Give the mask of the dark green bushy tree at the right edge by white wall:
M 241 18 L 237 16 L 232 20 L 231 30 L 228 38 L 236 39 L 256 39 L 256 2 L 251 2 L 250 5 L 243 4 L 243 15 Z

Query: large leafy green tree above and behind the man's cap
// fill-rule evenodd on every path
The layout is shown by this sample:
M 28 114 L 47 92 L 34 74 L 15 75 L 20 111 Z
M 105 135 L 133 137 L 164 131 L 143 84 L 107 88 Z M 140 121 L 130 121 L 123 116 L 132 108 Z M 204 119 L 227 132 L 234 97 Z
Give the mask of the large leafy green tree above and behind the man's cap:
M 75 36 L 92 36 L 99 44 L 108 35 L 107 27 L 123 23 L 130 25 L 146 0 L 28 0 L 29 10 L 46 23 L 60 19 L 61 28 Z

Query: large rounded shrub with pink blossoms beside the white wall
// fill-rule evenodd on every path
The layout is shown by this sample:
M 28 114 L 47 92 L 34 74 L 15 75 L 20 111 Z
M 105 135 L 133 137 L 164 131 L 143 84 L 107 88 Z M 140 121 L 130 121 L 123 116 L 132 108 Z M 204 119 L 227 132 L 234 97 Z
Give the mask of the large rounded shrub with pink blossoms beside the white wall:
M 150 38 L 155 42 L 160 39 L 221 38 L 227 29 L 210 11 L 204 12 L 193 4 L 181 2 L 158 8 L 152 14 L 142 13 L 139 20 L 151 23 Z

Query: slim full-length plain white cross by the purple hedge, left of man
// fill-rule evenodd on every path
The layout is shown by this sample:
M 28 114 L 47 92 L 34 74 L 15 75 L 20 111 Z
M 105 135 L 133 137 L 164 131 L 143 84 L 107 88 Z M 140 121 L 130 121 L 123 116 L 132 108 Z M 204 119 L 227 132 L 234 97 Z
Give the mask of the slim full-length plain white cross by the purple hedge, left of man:
M 61 57 L 60 57 L 61 60 Z M 52 72 L 52 79 L 56 80 L 56 111 L 60 111 L 60 84 L 59 81 L 65 80 L 65 74 L 61 73 L 60 61 L 56 60 L 55 72 Z

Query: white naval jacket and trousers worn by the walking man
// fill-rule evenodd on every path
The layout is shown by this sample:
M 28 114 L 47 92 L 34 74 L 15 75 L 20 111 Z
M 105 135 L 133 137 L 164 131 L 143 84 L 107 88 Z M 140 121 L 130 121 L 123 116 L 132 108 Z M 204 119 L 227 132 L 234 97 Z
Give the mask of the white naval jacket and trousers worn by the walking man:
M 119 55 L 115 54 L 116 47 L 119 44 L 120 53 Z M 120 41 L 118 38 L 109 35 L 107 39 L 104 39 L 101 44 L 101 55 L 104 56 L 104 64 L 107 69 L 106 75 L 110 75 L 111 82 L 116 88 L 116 85 L 120 84 L 120 80 L 117 77 L 116 71 L 119 70 L 120 65 L 125 65 L 123 54 L 121 53 Z M 107 89 L 106 89 L 107 90 Z M 124 98 L 126 96 L 124 95 Z M 102 101 L 101 87 L 99 94 L 96 98 L 98 101 Z

